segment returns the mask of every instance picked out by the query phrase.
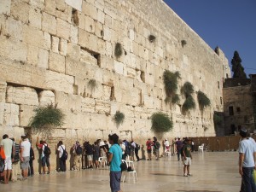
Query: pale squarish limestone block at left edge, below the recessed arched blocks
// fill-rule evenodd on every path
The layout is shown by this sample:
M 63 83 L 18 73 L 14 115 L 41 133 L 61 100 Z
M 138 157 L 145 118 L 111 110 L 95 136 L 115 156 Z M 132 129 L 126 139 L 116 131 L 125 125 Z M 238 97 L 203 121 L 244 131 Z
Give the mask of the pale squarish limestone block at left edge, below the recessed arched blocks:
M 19 105 L 0 102 L 0 125 L 19 126 Z

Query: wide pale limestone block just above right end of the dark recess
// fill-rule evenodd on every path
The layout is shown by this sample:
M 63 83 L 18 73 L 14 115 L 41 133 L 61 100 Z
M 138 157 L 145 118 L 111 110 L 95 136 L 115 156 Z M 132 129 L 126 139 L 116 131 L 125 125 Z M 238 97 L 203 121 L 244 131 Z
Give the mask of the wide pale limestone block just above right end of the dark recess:
M 49 89 L 73 94 L 74 78 L 62 73 L 48 71 L 45 73 L 45 86 Z

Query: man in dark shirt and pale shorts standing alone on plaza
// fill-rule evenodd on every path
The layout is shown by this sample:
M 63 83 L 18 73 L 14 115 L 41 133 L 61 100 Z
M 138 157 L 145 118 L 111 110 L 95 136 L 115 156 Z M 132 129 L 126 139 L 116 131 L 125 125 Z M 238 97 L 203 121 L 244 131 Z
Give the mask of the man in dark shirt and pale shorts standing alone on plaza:
M 189 170 L 191 166 L 191 160 L 192 160 L 191 150 L 192 150 L 191 139 L 188 138 L 186 144 L 183 146 L 183 157 L 184 157 L 183 176 L 184 177 L 192 176 Z M 187 171 L 187 174 L 186 174 L 186 171 Z

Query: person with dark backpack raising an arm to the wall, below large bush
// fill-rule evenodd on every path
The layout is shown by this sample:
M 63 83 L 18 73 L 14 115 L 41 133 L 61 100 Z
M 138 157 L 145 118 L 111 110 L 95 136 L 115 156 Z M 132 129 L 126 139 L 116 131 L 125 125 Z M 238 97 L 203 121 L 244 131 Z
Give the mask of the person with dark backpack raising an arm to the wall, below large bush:
M 49 154 L 51 154 L 50 148 L 45 141 L 42 141 L 39 143 L 39 137 L 37 137 L 37 146 L 38 148 L 41 149 L 41 162 L 43 166 L 43 174 L 45 174 L 46 172 L 46 166 L 48 167 L 47 174 L 49 174 L 50 173 Z

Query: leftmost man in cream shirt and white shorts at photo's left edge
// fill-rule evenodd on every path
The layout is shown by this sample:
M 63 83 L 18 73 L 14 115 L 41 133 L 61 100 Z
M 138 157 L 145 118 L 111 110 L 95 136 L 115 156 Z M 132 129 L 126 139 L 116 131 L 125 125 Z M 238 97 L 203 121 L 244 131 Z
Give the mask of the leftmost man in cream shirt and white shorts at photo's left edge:
M 0 143 L 1 150 L 4 150 L 5 153 L 5 160 L 4 160 L 4 172 L 3 172 L 3 177 L 4 177 L 4 183 L 9 183 L 9 177 L 12 172 L 12 155 L 13 157 L 15 156 L 15 146 L 14 142 L 9 139 L 8 135 L 3 135 L 3 140 Z

